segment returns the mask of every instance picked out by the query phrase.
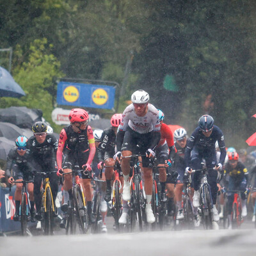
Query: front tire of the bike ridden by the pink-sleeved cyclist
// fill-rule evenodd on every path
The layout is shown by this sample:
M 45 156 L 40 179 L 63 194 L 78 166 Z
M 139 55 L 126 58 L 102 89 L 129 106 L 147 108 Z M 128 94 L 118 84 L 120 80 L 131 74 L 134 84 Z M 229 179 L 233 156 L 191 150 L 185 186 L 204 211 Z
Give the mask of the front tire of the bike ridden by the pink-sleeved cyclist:
M 76 205 L 77 223 L 81 233 L 85 234 L 88 231 L 89 221 L 86 206 L 84 205 L 83 191 L 81 191 L 81 188 L 78 184 L 76 184 L 74 188 L 74 198 Z

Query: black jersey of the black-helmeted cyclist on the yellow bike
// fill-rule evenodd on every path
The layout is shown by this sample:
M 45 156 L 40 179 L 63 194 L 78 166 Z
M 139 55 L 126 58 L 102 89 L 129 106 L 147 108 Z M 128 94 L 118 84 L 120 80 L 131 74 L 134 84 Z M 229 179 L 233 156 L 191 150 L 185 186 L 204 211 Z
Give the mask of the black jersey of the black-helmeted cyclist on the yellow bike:
M 27 152 L 30 161 L 44 166 L 56 161 L 56 152 L 58 149 L 58 140 L 52 134 L 47 134 L 43 143 L 38 143 L 35 136 L 31 136 L 27 142 Z

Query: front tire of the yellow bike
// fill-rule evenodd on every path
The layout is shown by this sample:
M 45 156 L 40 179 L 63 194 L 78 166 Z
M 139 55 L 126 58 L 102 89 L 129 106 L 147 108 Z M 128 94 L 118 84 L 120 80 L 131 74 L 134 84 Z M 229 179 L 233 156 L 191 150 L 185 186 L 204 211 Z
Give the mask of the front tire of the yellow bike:
M 51 189 L 46 188 L 46 211 L 44 212 L 44 222 L 45 222 L 45 235 L 53 234 L 53 207 L 52 207 L 52 193 Z

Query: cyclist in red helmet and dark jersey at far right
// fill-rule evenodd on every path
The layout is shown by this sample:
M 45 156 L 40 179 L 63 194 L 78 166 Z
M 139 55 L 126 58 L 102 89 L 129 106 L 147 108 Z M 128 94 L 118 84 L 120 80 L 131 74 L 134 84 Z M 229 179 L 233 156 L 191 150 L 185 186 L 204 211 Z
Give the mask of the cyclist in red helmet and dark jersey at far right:
M 237 152 L 229 152 L 228 153 L 228 163 L 225 165 L 224 177 L 225 177 L 225 186 L 228 188 L 228 191 L 241 190 L 241 206 L 242 212 L 241 216 L 247 216 L 246 209 L 246 192 L 247 192 L 247 184 L 249 179 L 249 173 L 244 164 L 238 161 L 239 155 Z M 232 204 L 234 201 L 234 193 L 228 192 L 228 202 L 227 202 L 227 210 L 228 210 L 228 228 L 232 228 L 231 223 L 231 212 L 232 212 Z

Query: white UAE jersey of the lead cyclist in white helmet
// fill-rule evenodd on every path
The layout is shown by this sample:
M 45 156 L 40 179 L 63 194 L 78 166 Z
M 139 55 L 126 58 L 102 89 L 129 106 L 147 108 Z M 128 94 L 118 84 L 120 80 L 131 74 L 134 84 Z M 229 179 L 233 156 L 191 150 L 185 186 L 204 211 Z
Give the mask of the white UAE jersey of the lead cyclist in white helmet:
M 151 131 L 160 131 L 161 125 L 159 122 L 158 110 L 152 104 L 148 104 L 148 111 L 146 115 L 138 116 L 135 113 L 133 104 L 127 106 L 124 110 L 119 129 L 120 131 L 126 131 L 128 126 L 133 131 L 140 134 Z

